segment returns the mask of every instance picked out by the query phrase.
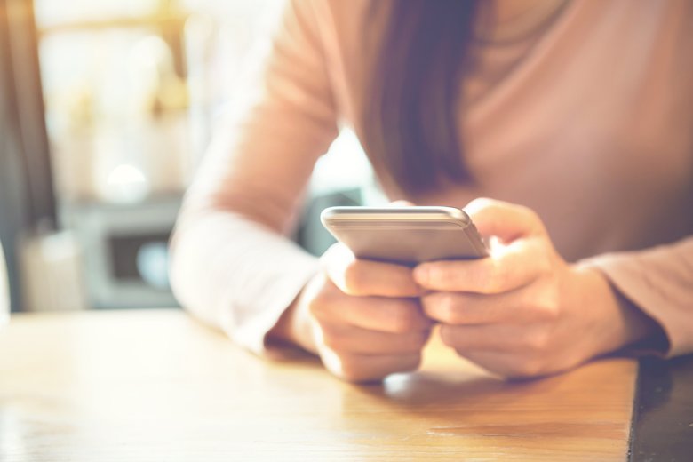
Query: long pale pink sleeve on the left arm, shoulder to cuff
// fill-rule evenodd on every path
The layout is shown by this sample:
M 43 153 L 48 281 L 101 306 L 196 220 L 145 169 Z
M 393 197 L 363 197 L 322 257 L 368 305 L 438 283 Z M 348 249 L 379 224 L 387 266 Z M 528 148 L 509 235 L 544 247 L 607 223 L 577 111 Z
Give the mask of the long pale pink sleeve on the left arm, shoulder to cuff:
M 180 303 L 257 354 L 273 353 L 267 332 L 317 271 L 316 259 L 285 236 L 316 160 L 338 134 L 316 5 L 286 5 L 262 65 L 216 131 L 171 239 Z

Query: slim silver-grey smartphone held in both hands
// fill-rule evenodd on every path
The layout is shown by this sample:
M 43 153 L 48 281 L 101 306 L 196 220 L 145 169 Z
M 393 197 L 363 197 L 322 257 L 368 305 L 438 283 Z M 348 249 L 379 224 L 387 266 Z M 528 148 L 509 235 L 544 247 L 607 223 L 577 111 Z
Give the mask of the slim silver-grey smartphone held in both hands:
M 360 259 L 414 266 L 488 255 L 472 219 L 454 207 L 330 207 L 320 220 Z

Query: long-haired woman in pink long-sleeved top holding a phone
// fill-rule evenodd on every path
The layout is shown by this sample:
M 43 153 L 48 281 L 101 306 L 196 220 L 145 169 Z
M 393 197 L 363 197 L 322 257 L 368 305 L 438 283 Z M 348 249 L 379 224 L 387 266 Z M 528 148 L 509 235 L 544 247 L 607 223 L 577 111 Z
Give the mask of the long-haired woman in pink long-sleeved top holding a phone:
M 351 381 L 416 369 L 435 323 L 507 377 L 693 351 L 691 49 L 686 0 L 294 0 L 187 195 L 174 290 Z M 412 270 L 283 237 L 338 123 L 393 200 L 498 236 L 490 258 Z

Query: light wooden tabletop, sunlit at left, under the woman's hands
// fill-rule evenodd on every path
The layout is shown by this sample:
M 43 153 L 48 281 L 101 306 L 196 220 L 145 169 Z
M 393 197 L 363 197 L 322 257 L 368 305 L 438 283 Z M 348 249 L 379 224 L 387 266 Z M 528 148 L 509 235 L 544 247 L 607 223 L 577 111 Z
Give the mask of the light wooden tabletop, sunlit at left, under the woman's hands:
M 179 310 L 16 315 L 0 460 L 625 460 L 637 362 L 506 382 L 444 349 L 382 384 L 266 362 Z

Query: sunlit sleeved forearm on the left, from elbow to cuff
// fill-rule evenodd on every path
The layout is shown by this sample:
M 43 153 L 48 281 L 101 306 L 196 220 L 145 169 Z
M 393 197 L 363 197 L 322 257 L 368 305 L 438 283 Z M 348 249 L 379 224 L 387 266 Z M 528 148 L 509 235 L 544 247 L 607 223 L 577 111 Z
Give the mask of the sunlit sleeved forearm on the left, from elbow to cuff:
M 258 354 L 316 271 L 315 258 L 286 237 L 230 211 L 184 211 L 171 251 L 181 304 Z

